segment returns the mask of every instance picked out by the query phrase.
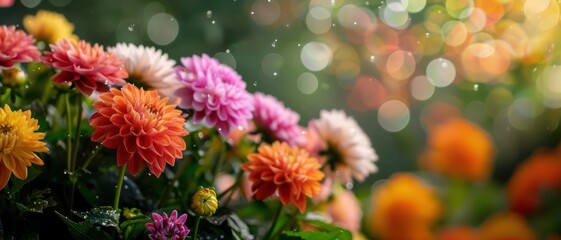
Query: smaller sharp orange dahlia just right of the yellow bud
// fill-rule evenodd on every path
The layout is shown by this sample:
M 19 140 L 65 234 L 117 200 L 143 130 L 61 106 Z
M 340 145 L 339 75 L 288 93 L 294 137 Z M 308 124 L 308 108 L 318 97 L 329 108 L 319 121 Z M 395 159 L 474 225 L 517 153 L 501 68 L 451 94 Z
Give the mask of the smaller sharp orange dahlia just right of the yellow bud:
M 306 196 L 318 195 L 323 172 L 321 165 L 308 152 L 291 147 L 286 142 L 262 144 L 258 153 L 247 156 L 242 165 L 249 172 L 251 190 L 257 200 L 263 200 L 277 192 L 283 205 L 292 203 L 301 213 L 306 210 Z

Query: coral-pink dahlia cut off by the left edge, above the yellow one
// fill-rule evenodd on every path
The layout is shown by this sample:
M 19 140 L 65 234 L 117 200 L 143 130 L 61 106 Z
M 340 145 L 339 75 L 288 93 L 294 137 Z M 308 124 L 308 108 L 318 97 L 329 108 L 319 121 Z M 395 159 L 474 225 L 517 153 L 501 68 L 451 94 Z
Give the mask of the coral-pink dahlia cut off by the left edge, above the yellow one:
M 21 62 L 41 60 L 41 53 L 34 45 L 35 39 L 15 26 L 0 26 L 0 69 L 12 68 Z

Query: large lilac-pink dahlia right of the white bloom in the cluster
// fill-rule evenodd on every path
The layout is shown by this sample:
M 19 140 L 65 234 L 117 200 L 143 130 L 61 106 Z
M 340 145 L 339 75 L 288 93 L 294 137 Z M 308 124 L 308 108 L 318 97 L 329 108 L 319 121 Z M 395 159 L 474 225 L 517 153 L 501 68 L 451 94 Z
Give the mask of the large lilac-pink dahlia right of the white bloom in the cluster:
M 193 109 L 195 122 L 217 127 L 224 136 L 239 126 L 246 128 L 253 100 L 240 75 L 206 54 L 182 58 L 181 62 L 183 66 L 175 69 L 183 84 L 175 92 L 181 98 L 179 106 Z

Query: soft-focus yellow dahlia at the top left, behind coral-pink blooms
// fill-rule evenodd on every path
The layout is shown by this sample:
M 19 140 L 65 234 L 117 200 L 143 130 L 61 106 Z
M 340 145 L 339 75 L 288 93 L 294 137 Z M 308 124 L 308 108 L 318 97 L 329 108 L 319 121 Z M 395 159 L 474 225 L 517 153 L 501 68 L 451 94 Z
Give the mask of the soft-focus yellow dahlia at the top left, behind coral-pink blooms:
M 23 27 L 35 38 L 49 43 L 55 43 L 62 38 L 78 40 L 78 37 L 72 34 L 74 24 L 56 12 L 39 10 L 36 15 L 27 15 L 23 18 Z

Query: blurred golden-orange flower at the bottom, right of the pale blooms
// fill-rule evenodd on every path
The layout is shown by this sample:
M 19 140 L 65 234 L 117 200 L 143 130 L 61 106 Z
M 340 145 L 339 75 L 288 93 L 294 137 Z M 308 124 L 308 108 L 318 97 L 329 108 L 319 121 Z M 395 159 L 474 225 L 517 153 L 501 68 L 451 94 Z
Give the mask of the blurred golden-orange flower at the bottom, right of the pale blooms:
M 380 239 L 433 239 L 431 226 L 441 215 L 433 189 L 408 173 L 396 173 L 374 190 L 368 228 Z

